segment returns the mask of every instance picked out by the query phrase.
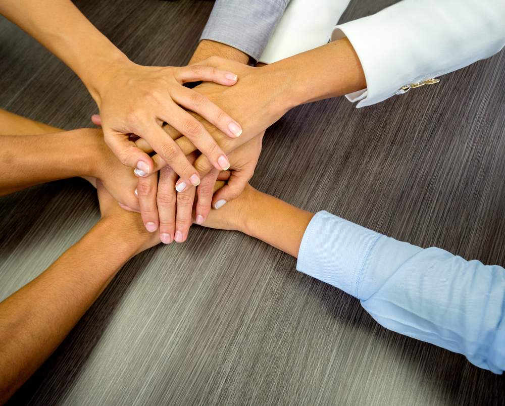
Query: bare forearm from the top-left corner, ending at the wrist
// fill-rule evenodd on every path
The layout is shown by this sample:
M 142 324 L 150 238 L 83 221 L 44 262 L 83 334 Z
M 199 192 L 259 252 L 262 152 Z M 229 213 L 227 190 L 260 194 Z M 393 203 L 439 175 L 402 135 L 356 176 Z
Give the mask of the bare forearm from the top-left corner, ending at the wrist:
M 0 13 L 65 62 L 97 100 L 98 82 L 126 56 L 70 0 L 6 0 Z

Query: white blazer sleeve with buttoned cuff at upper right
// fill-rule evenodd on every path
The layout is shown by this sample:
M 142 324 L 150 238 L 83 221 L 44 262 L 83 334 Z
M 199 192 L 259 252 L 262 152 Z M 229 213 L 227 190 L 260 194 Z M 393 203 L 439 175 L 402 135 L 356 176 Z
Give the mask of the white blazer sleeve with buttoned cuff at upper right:
M 337 25 L 360 58 L 368 89 L 347 95 L 358 107 L 382 102 L 405 85 L 452 72 L 505 45 L 503 0 L 403 0 Z

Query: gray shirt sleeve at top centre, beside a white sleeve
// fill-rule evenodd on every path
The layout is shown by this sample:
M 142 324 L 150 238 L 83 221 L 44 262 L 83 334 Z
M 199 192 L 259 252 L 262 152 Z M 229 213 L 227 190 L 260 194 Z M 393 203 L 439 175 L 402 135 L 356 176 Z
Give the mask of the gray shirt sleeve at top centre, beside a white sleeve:
M 258 61 L 289 0 L 216 0 L 200 41 L 211 39 Z

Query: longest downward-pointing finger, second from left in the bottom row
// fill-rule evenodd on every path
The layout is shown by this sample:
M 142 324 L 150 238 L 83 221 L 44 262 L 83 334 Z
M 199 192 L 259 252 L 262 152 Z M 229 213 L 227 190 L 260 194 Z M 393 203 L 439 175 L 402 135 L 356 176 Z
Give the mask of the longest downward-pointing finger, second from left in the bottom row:
M 177 174 L 169 166 L 160 170 L 156 204 L 160 218 L 160 239 L 164 244 L 170 244 L 175 238 L 175 211 L 177 192 L 175 181 Z

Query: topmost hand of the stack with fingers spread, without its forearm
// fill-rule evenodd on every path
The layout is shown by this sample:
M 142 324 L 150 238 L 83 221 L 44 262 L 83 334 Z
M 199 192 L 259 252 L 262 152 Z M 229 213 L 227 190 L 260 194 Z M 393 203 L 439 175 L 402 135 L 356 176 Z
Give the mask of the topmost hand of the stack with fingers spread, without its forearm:
M 197 171 L 162 130 L 164 122 L 187 136 L 215 168 L 228 166 L 228 158 L 205 127 L 178 106 L 205 117 L 228 137 L 240 135 L 240 125 L 228 114 L 198 92 L 182 86 L 198 80 L 231 86 L 237 76 L 210 66 L 145 67 L 123 61 L 97 86 L 95 100 L 105 140 L 124 165 L 136 168 L 138 176 L 153 173 L 153 162 L 129 140 L 130 133 L 145 139 L 187 184 L 199 183 Z

